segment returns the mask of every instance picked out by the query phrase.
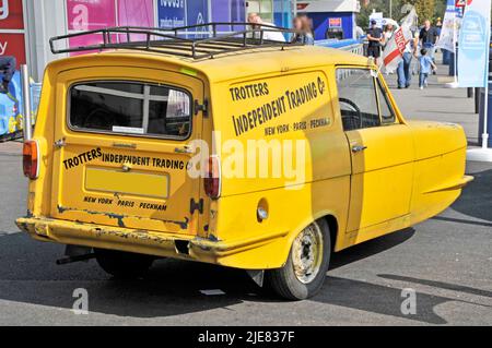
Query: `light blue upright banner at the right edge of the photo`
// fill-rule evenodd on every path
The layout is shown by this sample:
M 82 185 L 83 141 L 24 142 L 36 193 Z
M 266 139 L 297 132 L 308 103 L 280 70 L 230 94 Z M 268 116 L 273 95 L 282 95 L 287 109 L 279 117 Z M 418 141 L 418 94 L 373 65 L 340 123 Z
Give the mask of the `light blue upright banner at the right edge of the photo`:
M 460 87 L 485 87 L 489 80 L 491 0 L 468 0 L 459 34 Z

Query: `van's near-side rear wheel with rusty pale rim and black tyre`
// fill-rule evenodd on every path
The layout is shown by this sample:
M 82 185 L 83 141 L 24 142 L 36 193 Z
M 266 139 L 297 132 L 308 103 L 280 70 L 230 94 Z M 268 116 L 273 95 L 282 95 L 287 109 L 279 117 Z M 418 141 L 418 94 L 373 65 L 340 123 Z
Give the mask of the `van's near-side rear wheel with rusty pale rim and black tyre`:
M 267 272 L 267 285 L 286 300 L 308 299 L 321 289 L 330 256 L 329 226 L 325 219 L 320 219 L 295 238 L 288 262 L 282 268 Z

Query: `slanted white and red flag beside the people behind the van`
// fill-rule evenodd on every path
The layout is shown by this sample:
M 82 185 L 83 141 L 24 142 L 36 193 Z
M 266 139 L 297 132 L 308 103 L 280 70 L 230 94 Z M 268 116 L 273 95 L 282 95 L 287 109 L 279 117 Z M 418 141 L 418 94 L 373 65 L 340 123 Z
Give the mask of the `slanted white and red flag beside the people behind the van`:
M 386 45 L 383 53 L 383 63 L 386 72 L 394 72 L 398 69 L 398 64 L 403 59 L 403 52 L 407 44 L 413 39 L 411 27 L 417 21 L 417 11 L 412 9 L 403 19 L 401 26 L 395 31 L 391 39 Z

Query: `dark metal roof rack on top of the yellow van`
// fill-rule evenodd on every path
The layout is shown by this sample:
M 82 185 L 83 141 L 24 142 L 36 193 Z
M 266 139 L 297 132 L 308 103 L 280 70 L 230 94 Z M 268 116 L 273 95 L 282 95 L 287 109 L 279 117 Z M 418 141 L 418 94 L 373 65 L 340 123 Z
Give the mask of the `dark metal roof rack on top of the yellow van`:
M 241 31 L 220 33 L 221 27 L 241 27 Z M 105 49 L 133 49 L 166 53 L 191 59 L 214 58 L 219 55 L 238 52 L 255 48 L 280 48 L 304 46 L 302 43 L 273 41 L 265 39 L 267 33 L 282 33 L 291 36 L 297 32 L 289 28 L 263 24 L 216 22 L 175 28 L 156 28 L 139 26 L 108 27 L 97 31 L 56 36 L 49 40 L 54 55 L 83 52 Z M 79 37 L 97 37 L 98 44 L 70 47 L 69 40 Z M 66 47 L 59 43 L 65 43 Z M 58 45 L 57 45 L 58 44 Z

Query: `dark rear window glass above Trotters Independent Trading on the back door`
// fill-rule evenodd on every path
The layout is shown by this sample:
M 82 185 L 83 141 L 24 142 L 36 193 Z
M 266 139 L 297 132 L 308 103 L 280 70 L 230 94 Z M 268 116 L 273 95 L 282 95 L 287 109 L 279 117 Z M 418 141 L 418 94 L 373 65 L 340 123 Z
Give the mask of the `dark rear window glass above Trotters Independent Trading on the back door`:
M 74 131 L 184 140 L 191 132 L 191 97 L 169 86 L 90 82 L 70 88 Z

